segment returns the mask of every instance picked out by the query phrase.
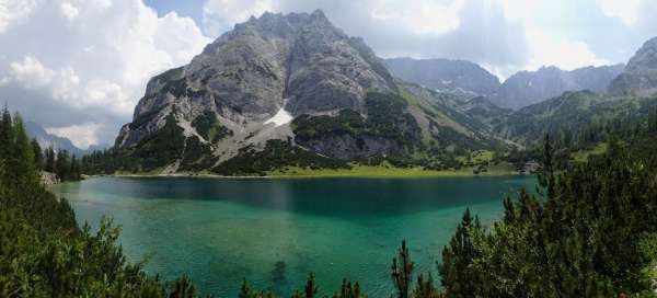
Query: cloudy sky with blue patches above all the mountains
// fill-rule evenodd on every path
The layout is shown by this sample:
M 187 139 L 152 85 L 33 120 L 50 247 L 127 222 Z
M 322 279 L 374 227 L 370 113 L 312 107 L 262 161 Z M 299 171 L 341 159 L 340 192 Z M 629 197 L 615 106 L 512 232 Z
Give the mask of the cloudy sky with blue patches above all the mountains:
M 322 9 L 381 57 L 519 70 L 626 62 L 654 0 L 0 0 L 0 101 L 80 148 L 113 144 L 148 79 L 265 11 Z

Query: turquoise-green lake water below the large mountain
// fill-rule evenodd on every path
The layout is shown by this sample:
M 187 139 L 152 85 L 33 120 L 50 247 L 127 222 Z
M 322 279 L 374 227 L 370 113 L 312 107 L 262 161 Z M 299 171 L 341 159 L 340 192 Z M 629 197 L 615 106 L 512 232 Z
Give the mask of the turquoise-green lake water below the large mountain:
M 462 211 L 483 222 L 502 214 L 522 176 L 440 179 L 103 177 L 54 187 L 79 222 L 103 215 L 123 227 L 130 261 L 172 279 L 188 273 L 200 290 L 235 297 L 245 277 L 288 296 L 309 272 L 332 293 L 343 277 L 370 297 L 392 293 L 389 268 L 406 239 L 416 272 L 437 275 L 442 247 Z

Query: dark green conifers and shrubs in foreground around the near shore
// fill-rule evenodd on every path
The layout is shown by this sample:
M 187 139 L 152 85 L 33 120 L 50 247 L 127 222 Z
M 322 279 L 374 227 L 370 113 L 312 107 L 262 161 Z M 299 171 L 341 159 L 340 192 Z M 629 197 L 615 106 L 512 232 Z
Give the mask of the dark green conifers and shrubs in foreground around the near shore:
M 186 276 L 160 280 L 131 264 L 119 228 L 76 222 L 66 198 L 41 184 L 44 167 L 19 115 L 0 122 L 0 296 L 197 297 Z M 404 242 L 391 251 L 393 297 L 648 297 L 657 274 L 657 113 L 607 129 L 606 152 L 560 161 L 545 137 L 538 194 L 504 199 L 488 227 L 464 210 L 437 264 L 439 276 L 414 271 Z M 557 167 L 557 164 L 567 164 Z M 66 168 L 66 167 L 65 167 Z M 431 234 L 426 237 L 430 238 Z M 400 241 L 402 241 L 400 239 Z M 374 274 L 374 273 L 372 273 Z M 367 297 L 357 280 L 318 288 L 309 273 L 295 293 L 253 289 L 240 297 Z M 205 295 L 205 294 L 204 294 Z

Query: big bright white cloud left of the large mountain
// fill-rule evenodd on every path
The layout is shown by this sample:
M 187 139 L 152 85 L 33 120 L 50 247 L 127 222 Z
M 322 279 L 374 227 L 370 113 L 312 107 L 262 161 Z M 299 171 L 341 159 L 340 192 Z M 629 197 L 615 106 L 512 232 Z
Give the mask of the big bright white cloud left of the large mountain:
M 130 119 L 148 79 L 187 64 L 211 42 L 192 19 L 159 18 L 142 0 L 28 0 L 34 4 L 22 14 L 30 22 L 21 22 L 11 8 L 24 1 L 0 0 L 0 96 L 21 88 L 7 96 L 10 105 L 48 100 L 76 115 L 33 118 L 45 126 L 79 125 L 94 111 L 103 141 Z

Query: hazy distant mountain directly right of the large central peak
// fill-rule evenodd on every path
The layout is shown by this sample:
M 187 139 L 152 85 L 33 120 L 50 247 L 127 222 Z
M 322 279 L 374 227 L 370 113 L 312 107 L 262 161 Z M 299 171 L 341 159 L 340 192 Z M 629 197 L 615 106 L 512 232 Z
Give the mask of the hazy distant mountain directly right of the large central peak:
M 385 65 L 402 80 L 465 98 L 492 95 L 500 85 L 497 77 L 464 60 L 392 58 Z

